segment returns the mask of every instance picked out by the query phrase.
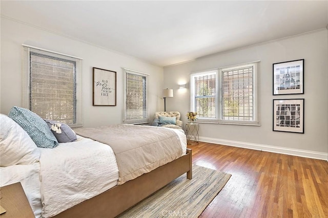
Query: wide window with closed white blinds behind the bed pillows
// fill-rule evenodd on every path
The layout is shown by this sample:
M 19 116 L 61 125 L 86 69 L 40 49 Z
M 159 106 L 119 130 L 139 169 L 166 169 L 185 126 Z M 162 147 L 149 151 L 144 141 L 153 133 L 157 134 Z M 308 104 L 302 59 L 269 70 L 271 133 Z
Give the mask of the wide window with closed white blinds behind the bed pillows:
M 22 48 L 22 105 L 44 119 L 83 126 L 80 58 Z

